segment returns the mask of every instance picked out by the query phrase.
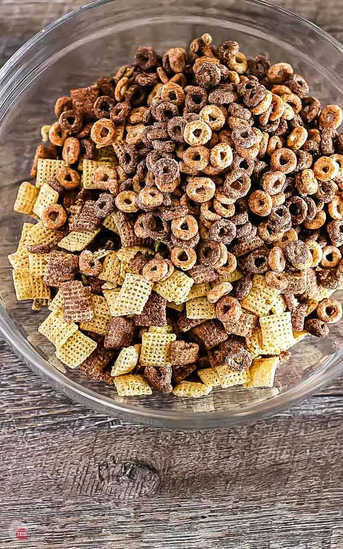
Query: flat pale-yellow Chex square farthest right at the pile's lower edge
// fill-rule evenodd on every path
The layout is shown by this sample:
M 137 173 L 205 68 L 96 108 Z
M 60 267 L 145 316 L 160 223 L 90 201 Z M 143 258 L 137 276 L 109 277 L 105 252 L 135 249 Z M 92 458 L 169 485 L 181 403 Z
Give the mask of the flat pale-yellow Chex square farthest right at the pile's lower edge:
M 291 313 L 282 312 L 279 315 L 260 317 L 262 343 L 264 347 L 286 351 L 294 345 Z

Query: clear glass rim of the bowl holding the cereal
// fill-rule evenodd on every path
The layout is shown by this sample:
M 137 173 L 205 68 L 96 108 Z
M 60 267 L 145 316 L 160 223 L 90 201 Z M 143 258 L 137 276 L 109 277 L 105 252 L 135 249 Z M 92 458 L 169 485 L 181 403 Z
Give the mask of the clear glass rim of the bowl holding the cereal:
M 83 5 L 53 21 L 53 23 L 44 27 L 44 29 L 25 42 L 0 69 L 0 104 L 2 104 L 4 96 L 7 95 L 9 91 L 7 86 L 5 86 L 5 83 L 8 81 L 10 73 L 16 66 L 20 69 L 20 61 L 30 49 L 46 40 L 50 32 L 63 25 L 66 21 L 74 18 L 80 11 L 86 12 L 98 5 L 110 2 L 113 2 L 113 0 L 95 0 L 95 2 Z M 259 4 L 268 7 L 275 12 L 281 12 L 301 25 L 309 27 L 313 32 L 320 35 L 343 54 L 343 45 L 338 40 L 330 36 L 329 33 L 314 23 L 311 23 L 311 21 L 303 18 L 301 15 L 297 15 L 286 8 L 268 2 L 268 0 L 249 0 L 249 2 L 251 4 Z M 310 396 L 343 370 L 343 349 L 340 349 L 336 351 L 330 360 L 328 360 L 320 371 L 318 371 L 318 374 L 320 375 L 308 378 L 305 382 L 302 382 L 300 386 L 285 391 L 283 394 L 279 394 L 277 398 L 258 402 L 252 407 L 248 407 L 248 410 L 246 411 L 244 408 L 232 407 L 229 411 L 190 413 L 144 408 L 127 404 L 127 402 L 116 404 L 114 400 L 68 379 L 68 377 L 64 376 L 58 369 L 45 361 L 33 346 L 31 346 L 20 328 L 9 316 L 2 300 L 0 300 L 0 312 L 0 332 L 4 339 L 26 364 L 50 385 L 54 386 L 57 390 L 63 391 L 63 393 L 72 400 L 75 400 L 84 406 L 92 407 L 100 413 L 119 417 L 126 421 L 148 424 L 153 427 L 208 429 L 225 428 L 240 423 L 251 423 L 257 421 L 257 419 L 278 413 L 284 410 L 284 408 L 295 404 L 295 402 Z

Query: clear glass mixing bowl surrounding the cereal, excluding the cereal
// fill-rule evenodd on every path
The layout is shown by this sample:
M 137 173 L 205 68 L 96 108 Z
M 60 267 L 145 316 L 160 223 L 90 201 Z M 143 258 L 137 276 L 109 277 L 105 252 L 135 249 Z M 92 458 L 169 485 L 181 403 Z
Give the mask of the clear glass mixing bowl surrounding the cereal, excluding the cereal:
M 7 255 L 24 217 L 12 211 L 19 183 L 30 177 L 40 127 L 54 120 L 55 99 L 131 63 L 139 45 L 164 52 L 210 32 L 237 40 L 246 55 L 288 61 L 322 103 L 343 104 L 343 49 L 315 25 L 265 1 L 99 1 L 65 15 L 31 38 L 0 71 L 0 227 L 2 333 L 21 358 L 71 399 L 109 416 L 176 428 L 220 428 L 255 421 L 317 390 L 342 369 L 340 325 L 327 339 L 306 337 L 279 368 L 271 389 L 214 389 L 204 399 L 153 394 L 121 398 L 114 386 L 86 379 L 54 358 L 37 333 L 47 312 L 16 302 Z M 26 219 L 31 221 L 31 219 Z M 340 296 L 342 298 L 342 295 Z

